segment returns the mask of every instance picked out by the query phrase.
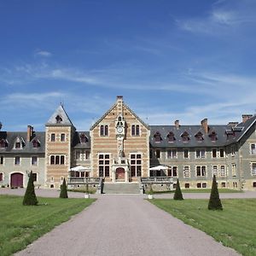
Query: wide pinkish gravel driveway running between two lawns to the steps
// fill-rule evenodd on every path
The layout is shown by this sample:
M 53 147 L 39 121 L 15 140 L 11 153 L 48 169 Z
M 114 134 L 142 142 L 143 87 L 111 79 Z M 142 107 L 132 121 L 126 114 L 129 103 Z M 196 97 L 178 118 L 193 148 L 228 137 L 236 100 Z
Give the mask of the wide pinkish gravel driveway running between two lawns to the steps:
M 239 255 L 141 195 L 98 195 L 67 223 L 15 255 Z

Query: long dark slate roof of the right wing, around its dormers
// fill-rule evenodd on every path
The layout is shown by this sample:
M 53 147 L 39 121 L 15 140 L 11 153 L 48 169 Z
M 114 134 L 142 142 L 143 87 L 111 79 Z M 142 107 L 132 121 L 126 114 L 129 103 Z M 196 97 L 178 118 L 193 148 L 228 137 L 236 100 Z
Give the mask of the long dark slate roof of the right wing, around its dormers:
M 150 137 L 149 143 L 153 148 L 203 148 L 203 147 L 224 147 L 231 143 L 239 142 L 241 137 L 248 129 L 255 124 L 256 116 L 248 119 L 245 123 L 240 123 L 235 127 L 230 125 L 208 125 L 208 133 L 206 134 L 201 125 L 180 125 L 177 129 L 175 125 L 149 125 Z M 183 132 L 189 133 L 189 142 L 184 143 L 181 135 Z M 198 141 L 195 135 L 201 131 L 203 140 Z M 212 142 L 210 134 L 215 131 L 217 140 Z M 159 132 L 161 136 L 160 142 L 155 142 L 154 135 Z M 167 135 L 172 132 L 174 142 L 170 143 Z M 229 136 L 228 136 L 229 135 Z

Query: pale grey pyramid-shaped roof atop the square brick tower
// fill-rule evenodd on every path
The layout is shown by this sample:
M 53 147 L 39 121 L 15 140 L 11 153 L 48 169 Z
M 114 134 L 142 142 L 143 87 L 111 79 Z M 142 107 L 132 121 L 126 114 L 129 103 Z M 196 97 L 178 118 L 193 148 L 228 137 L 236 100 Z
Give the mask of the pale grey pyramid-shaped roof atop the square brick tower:
M 49 118 L 48 122 L 45 125 L 49 126 L 69 126 L 72 125 L 73 123 L 71 119 L 69 119 L 67 112 L 65 111 L 63 105 L 61 104 L 58 108 L 56 108 L 55 113 L 51 115 Z

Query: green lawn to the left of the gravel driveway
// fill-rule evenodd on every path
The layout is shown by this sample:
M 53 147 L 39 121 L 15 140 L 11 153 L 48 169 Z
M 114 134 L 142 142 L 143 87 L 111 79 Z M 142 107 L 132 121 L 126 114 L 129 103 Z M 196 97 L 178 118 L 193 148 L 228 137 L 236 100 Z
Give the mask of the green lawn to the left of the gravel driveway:
M 20 196 L 0 195 L 1 256 L 20 251 L 95 201 L 38 197 L 38 206 L 23 206 L 22 200 Z

